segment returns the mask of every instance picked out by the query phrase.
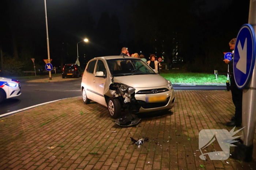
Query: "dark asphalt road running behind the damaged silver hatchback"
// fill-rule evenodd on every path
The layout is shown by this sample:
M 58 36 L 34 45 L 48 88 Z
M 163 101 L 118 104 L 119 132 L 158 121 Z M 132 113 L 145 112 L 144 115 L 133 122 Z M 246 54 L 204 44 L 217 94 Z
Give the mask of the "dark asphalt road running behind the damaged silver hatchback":
M 26 80 L 21 80 L 22 94 L 0 103 L 0 115 L 53 100 L 81 96 L 81 79 L 74 78 L 67 82 L 55 83 L 26 83 Z M 173 86 L 174 90 L 226 90 L 226 86 L 179 84 Z

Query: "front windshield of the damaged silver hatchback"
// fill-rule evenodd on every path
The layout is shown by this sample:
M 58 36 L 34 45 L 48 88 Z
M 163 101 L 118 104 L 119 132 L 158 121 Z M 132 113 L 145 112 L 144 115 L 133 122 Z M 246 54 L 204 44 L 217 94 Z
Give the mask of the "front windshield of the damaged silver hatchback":
M 109 59 L 107 63 L 113 76 L 156 74 L 140 59 Z

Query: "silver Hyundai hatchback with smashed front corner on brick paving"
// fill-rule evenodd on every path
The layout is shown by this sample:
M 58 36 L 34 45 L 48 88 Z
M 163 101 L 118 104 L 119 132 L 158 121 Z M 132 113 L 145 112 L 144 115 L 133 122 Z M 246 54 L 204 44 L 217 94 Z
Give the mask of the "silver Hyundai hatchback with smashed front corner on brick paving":
M 83 73 L 83 102 L 108 107 L 112 118 L 131 113 L 169 110 L 174 106 L 173 85 L 147 63 L 128 56 L 91 59 Z

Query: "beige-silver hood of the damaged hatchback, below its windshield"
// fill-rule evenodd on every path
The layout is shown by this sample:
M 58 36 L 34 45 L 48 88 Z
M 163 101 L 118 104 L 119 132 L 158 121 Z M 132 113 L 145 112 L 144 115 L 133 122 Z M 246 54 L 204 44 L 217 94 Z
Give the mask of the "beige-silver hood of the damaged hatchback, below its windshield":
M 167 85 L 167 80 L 158 74 L 131 75 L 114 77 L 114 82 L 130 87 L 147 88 Z

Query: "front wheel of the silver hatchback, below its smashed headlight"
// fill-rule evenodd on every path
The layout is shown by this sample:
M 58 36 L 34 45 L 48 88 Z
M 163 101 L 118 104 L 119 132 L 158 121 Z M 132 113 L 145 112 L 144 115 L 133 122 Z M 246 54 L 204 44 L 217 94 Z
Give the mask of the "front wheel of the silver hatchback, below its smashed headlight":
M 121 116 L 121 104 L 118 99 L 109 98 L 108 109 L 112 118 L 117 119 Z

